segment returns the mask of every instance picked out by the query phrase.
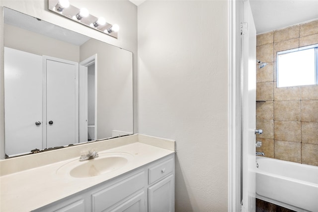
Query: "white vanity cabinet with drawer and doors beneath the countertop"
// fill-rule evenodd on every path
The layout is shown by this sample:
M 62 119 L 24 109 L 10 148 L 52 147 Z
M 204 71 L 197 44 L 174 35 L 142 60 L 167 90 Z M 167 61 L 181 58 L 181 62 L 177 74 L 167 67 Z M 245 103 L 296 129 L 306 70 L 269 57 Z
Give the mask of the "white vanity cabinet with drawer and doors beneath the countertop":
M 174 154 L 36 211 L 174 212 Z

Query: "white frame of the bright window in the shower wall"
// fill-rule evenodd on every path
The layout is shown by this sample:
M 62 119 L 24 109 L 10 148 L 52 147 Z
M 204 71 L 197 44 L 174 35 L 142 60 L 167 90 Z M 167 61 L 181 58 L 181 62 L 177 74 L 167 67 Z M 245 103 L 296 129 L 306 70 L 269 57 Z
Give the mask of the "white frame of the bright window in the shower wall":
M 284 50 L 284 51 L 279 51 L 276 53 L 276 87 L 277 88 L 287 88 L 287 87 L 295 87 L 295 86 L 311 86 L 311 85 L 295 85 L 295 86 L 285 86 L 285 87 L 278 87 L 278 56 L 281 54 L 286 54 L 286 53 L 291 53 L 291 52 L 298 52 L 302 50 L 307 50 L 307 49 L 315 49 L 315 84 L 313 85 L 318 85 L 318 43 L 314 45 L 309 45 L 309 46 L 303 46 L 295 49 L 289 49 L 289 50 Z

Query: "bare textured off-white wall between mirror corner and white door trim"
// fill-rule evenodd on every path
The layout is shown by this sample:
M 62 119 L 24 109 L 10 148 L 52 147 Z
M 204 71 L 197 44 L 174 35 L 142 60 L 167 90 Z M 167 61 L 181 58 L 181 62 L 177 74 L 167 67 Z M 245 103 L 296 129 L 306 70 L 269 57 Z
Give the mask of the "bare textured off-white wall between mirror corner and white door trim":
M 138 6 L 139 132 L 176 140 L 176 212 L 228 207 L 228 2 Z

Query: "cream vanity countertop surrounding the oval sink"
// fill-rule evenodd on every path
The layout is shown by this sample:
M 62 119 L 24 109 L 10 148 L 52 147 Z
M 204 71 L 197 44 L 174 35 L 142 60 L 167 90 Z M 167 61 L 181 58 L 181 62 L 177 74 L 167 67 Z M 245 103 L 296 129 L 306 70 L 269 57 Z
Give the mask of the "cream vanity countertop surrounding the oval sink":
M 150 141 L 151 145 L 146 144 L 147 140 Z M 166 148 L 160 146 L 162 142 L 160 142 L 159 138 L 139 135 L 137 142 L 98 151 L 100 155 L 111 152 L 124 152 L 132 155 L 132 157 L 129 163 L 122 168 L 95 177 L 74 178 L 69 173 L 57 174 L 59 168 L 67 163 L 78 160 L 79 155 L 67 160 L 2 175 L 0 177 L 0 211 L 32 211 L 113 179 L 164 156 L 174 154 L 174 141 L 164 140 L 164 142 L 168 144 L 165 145 Z M 160 147 L 156 143 L 159 143 Z M 86 149 L 88 147 L 92 149 L 96 148 L 94 143 L 91 143 L 90 146 L 85 146 Z M 171 149 L 172 147 L 173 149 Z M 62 151 L 60 151 L 61 153 Z M 25 162 L 27 163 L 27 157 Z

